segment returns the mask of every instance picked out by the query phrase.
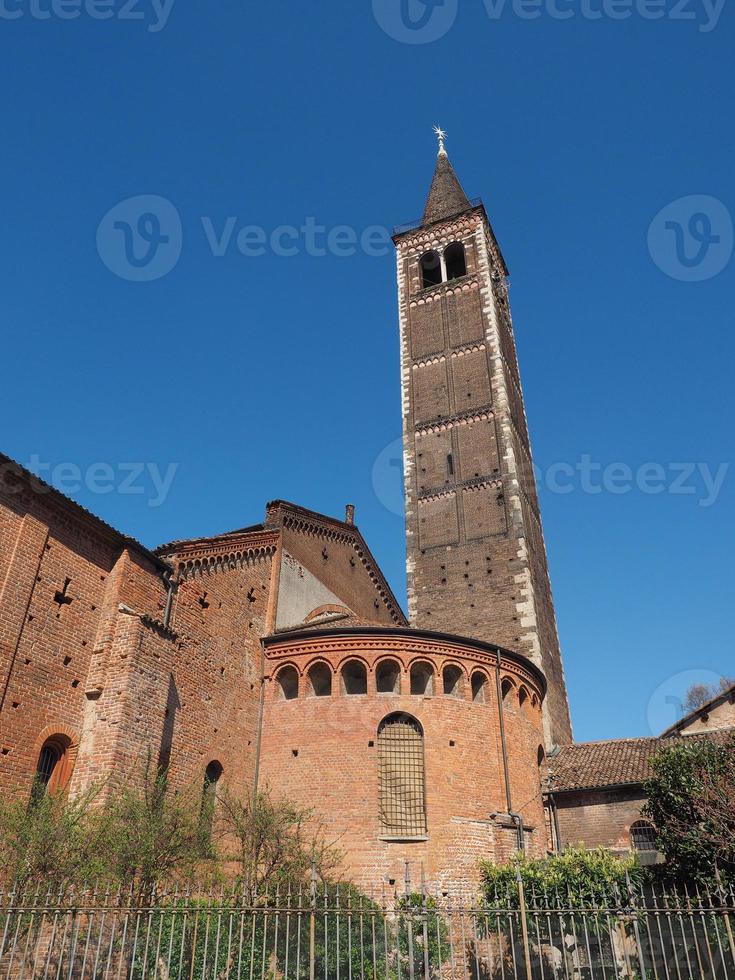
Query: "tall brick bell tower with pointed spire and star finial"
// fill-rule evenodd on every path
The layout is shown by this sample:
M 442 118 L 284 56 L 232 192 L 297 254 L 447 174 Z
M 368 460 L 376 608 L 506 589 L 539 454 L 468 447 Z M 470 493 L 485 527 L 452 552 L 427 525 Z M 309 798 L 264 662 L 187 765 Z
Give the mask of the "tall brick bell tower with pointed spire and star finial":
M 508 302 L 508 269 L 437 130 L 421 222 L 397 229 L 412 625 L 525 654 L 547 745 L 572 739 Z

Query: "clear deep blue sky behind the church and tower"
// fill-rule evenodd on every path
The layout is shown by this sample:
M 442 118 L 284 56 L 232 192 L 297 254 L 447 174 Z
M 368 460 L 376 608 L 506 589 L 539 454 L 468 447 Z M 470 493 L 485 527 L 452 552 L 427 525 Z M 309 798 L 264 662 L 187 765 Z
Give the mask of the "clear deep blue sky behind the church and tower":
M 439 122 L 511 270 L 576 736 L 734 673 L 732 6 L 97 2 L 0 3 L 2 449 L 151 546 L 353 502 L 403 599 L 394 261 L 335 229 L 420 215 Z M 151 281 L 105 218 L 141 195 Z

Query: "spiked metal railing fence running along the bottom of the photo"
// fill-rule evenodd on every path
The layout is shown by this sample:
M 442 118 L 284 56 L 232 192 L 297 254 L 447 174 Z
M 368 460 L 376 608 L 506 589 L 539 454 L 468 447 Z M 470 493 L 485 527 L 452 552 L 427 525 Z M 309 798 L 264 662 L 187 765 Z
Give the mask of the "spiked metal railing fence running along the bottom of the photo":
M 10 889 L 0 980 L 735 980 L 732 893 Z

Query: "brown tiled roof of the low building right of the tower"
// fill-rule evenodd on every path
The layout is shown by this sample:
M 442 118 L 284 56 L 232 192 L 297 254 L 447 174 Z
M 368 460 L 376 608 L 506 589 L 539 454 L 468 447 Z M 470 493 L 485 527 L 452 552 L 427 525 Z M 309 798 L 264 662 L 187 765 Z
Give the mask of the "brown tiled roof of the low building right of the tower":
M 547 788 L 550 792 L 569 792 L 644 783 L 652 774 L 651 759 L 664 746 L 659 738 L 565 745 L 547 760 Z

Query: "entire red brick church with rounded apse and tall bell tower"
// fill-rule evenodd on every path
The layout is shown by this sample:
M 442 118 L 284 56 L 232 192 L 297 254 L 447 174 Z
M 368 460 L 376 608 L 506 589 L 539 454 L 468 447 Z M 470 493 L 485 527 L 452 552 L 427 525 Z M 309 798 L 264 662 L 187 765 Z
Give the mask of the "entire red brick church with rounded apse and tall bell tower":
M 152 756 L 173 789 L 310 807 L 364 885 L 643 841 L 661 743 L 573 743 L 508 269 L 437 135 L 394 235 L 407 615 L 349 505 L 150 550 L 0 456 L 4 794 Z

